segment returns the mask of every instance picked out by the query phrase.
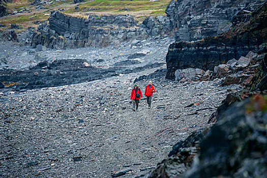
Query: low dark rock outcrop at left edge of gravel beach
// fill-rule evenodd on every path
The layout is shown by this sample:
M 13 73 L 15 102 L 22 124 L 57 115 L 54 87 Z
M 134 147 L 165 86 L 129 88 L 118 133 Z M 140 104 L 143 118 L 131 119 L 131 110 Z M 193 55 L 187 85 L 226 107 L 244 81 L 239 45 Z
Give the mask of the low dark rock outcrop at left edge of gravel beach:
M 42 88 L 92 81 L 118 75 L 115 70 L 103 70 L 86 65 L 86 60 L 46 61 L 25 71 L 1 71 L 1 82 L 14 90 Z

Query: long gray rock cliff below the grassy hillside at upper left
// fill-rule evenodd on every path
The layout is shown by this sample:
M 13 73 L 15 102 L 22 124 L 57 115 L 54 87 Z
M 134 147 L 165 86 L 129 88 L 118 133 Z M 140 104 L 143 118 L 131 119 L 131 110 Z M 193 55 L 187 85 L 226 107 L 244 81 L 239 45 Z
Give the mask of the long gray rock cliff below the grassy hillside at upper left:
M 122 41 L 146 38 L 144 28 L 138 27 L 131 15 L 96 16 L 87 19 L 66 16 L 53 11 L 50 25 L 40 25 L 28 35 L 31 45 L 41 44 L 50 48 L 77 48 L 108 46 Z

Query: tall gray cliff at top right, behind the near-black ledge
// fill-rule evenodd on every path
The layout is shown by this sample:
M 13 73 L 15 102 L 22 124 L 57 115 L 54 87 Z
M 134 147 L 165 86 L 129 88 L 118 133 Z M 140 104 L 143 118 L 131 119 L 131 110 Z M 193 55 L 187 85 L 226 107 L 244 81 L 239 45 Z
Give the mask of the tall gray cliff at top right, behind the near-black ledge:
M 248 14 L 264 2 L 177 0 L 171 1 L 165 12 L 170 21 L 169 29 L 176 31 L 176 40 L 193 41 L 227 31 L 236 13 L 245 10 Z

